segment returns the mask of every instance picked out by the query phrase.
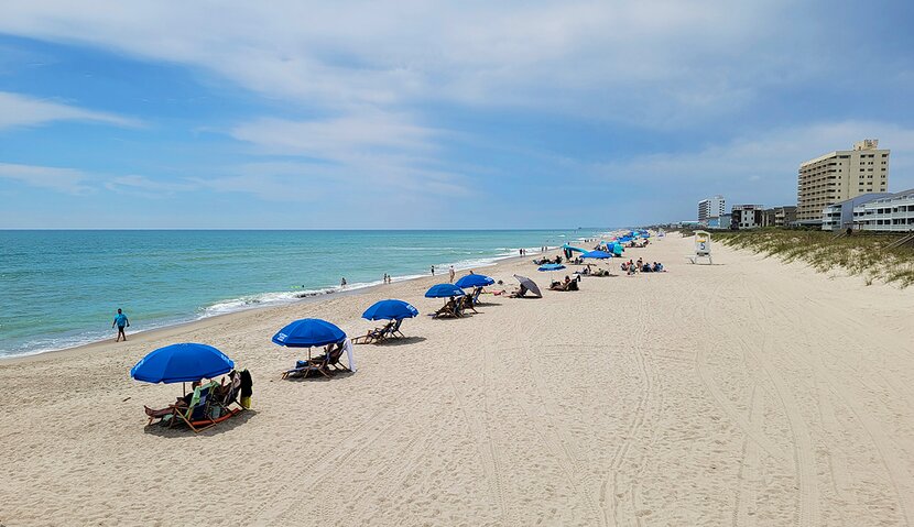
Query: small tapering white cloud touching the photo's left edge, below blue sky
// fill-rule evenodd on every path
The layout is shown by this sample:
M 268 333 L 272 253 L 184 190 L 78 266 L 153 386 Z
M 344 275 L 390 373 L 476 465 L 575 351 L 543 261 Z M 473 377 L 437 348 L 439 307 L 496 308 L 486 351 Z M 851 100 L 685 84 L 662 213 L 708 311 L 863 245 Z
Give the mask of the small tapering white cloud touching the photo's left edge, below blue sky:
M 139 122 L 113 113 L 86 110 L 74 106 L 9 91 L 0 91 L 0 130 L 31 127 L 52 121 L 89 121 L 118 127 L 137 127 Z

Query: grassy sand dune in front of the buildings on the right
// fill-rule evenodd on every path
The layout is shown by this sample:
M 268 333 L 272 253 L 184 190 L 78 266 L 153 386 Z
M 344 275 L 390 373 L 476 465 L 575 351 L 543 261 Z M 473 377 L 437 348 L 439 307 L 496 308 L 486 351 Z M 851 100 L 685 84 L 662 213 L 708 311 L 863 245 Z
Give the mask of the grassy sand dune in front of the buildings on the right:
M 914 285 L 914 248 L 890 248 L 900 239 L 894 233 L 836 237 L 827 231 L 759 229 L 716 232 L 714 237 L 725 245 L 777 256 L 784 262 L 806 262 L 821 273 L 845 270 L 862 276 L 867 285 L 875 279 L 902 288 Z

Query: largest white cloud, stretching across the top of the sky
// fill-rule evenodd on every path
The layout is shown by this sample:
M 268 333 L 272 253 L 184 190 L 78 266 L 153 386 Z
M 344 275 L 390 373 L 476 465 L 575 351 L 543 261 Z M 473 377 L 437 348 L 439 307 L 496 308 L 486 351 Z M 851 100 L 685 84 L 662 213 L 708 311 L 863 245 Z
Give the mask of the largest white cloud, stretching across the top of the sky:
M 783 0 L 11 0 L 0 31 L 193 65 L 295 107 L 443 100 L 670 127 L 820 75 L 820 30 L 794 11 Z

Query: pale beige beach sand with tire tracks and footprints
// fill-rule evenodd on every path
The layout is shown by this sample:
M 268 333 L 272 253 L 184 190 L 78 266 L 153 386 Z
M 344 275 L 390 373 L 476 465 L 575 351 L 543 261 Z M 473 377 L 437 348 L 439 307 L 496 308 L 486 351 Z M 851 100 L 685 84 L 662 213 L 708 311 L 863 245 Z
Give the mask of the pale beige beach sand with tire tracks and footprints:
M 281 381 L 296 353 L 270 337 L 302 317 L 361 333 L 387 297 L 431 312 L 435 281 L 4 361 L 0 524 L 914 523 L 914 290 L 721 246 L 689 265 L 689 249 L 627 252 L 668 273 L 407 320 L 331 381 Z M 144 428 L 142 405 L 179 387 L 128 371 L 176 341 L 249 367 L 254 410 Z

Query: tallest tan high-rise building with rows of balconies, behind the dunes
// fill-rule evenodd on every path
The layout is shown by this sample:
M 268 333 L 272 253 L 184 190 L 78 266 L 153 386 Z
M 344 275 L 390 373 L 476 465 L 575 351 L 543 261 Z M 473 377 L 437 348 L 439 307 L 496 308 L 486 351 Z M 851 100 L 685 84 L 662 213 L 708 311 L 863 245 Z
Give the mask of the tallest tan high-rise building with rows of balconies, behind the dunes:
M 878 139 L 853 143 L 799 165 L 796 220 L 820 221 L 825 207 L 861 194 L 889 188 L 889 151 L 879 150 Z

